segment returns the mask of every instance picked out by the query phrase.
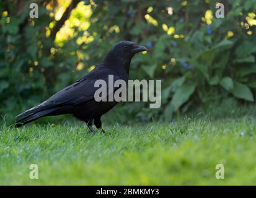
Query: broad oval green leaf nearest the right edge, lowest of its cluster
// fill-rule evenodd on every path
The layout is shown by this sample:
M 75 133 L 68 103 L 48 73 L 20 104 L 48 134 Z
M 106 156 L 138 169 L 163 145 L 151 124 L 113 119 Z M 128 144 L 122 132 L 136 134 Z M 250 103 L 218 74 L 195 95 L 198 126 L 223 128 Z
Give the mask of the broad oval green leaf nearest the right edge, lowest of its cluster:
M 237 98 L 254 101 L 254 96 L 252 95 L 250 88 L 240 82 L 234 82 L 234 88 L 231 92 Z

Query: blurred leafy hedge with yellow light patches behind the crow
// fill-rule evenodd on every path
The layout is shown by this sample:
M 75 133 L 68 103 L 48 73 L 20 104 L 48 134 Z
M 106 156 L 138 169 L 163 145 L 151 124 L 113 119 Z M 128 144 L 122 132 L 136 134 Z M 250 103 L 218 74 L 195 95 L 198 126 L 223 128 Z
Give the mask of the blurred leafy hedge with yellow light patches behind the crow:
M 32 2 L 38 19 L 29 16 Z M 92 71 L 121 40 L 149 49 L 133 58 L 130 79 L 162 80 L 161 108 L 122 103 L 112 111 L 121 123 L 200 112 L 228 116 L 236 106 L 254 105 L 255 1 L 221 1 L 224 19 L 216 18 L 216 3 L 1 1 L 2 118 L 13 123 L 15 114 Z

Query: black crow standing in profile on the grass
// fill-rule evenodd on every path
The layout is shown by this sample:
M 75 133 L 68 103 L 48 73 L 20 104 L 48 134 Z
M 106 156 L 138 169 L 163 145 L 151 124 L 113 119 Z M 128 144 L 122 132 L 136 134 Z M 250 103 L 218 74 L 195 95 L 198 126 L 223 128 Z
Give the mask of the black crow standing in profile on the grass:
M 104 61 L 89 74 L 55 93 L 40 105 L 16 116 L 15 118 L 20 119 L 17 121 L 16 127 L 43 116 L 73 114 L 76 118 L 85 121 L 93 134 L 92 123 L 97 129 L 104 132 L 100 117 L 112 109 L 117 101 L 95 101 L 94 93 L 98 89 L 94 85 L 95 81 L 101 79 L 108 82 L 108 75 L 113 75 L 114 81 L 121 79 L 127 83 L 131 58 L 136 53 L 146 50 L 144 46 L 135 45 L 131 41 L 121 41 L 110 50 Z

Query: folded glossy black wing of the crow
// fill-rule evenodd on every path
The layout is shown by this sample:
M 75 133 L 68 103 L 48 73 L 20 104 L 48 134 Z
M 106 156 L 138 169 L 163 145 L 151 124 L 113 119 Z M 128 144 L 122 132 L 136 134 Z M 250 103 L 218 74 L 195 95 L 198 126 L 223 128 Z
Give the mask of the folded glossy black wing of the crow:
M 92 100 L 94 99 L 95 91 L 99 89 L 99 87 L 95 87 L 94 85 L 96 80 L 105 80 L 108 85 L 108 75 L 113 75 L 114 82 L 115 80 L 120 79 L 120 75 L 118 75 L 118 73 L 113 69 L 99 65 L 92 72 L 81 79 L 76 80 L 76 82 L 68 87 L 63 88 L 60 92 L 55 93 L 55 95 L 51 96 L 48 100 L 31 108 L 30 110 L 25 111 L 24 113 L 19 114 L 15 118 L 22 118 L 49 108 L 65 105 L 77 105 L 79 103 Z M 108 88 L 106 93 L 108 93 Z

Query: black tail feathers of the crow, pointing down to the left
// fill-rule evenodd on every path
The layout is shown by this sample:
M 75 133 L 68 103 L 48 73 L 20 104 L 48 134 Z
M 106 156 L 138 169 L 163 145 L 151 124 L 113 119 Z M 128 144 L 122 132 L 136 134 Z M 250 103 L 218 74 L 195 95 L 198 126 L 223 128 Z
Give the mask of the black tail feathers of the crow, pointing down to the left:
M 35 119 L 41 118 L 43 116 L 48 116 L 50 113 L 53 113 L 58 109 L 59 109 L 58 107 L 55 107 L 55 108 L 48 108 L 42 111 L 33 112 L 32 114 L 29 114 L 28 116 L 25 116 L 24 118 L 17 121 L 17 123 L 15 124 L 15 127 L 20 127 L 24 124 L 34 121 Z

